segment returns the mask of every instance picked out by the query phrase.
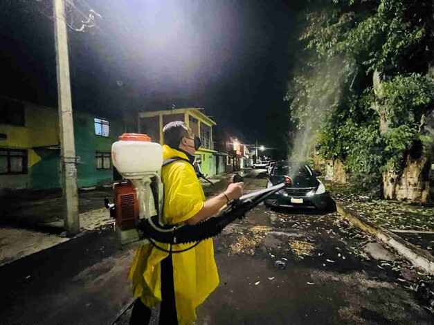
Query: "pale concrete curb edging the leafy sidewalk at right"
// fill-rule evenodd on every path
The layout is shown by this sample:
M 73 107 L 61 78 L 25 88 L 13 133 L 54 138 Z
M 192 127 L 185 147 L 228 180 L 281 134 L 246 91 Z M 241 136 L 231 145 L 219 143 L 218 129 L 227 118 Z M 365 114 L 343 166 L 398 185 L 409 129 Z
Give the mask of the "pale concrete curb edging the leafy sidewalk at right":
M 429 252 L 422 250 L 422 248 L 418 248 L 412 243 L 408 243 L 408 241 L 402 239 L 396 234 L 366 220 L 363 216 L 359 216 L 356 212 L 344 207 L 342 203 L 338 201 L 335 202 L 339 214 L 348 219 L 357 228 L 372 234 L 383 241 L 383 243 L 394 248 L 401 256 L 413 263 L 414 266 L 421 268 L 430 275 L 434 275 L 434 257 Z

